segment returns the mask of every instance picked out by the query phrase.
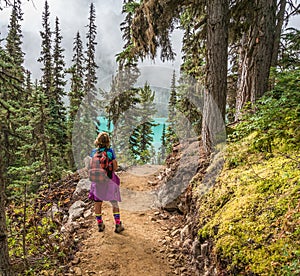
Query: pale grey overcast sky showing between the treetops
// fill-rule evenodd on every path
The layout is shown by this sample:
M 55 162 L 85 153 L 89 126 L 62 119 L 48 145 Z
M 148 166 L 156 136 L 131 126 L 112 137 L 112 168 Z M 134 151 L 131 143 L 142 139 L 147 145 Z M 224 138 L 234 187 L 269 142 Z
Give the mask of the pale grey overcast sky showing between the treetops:
M 94 3 L 96 10 L 96 26 L 97 26 L 97 48 L 96 57 L 97 64 L 100 67 L 98 73 L 98 84 L 107 87 L 110 83 L 112 74 L 116 71 L 115 55 L 122 50 L 123 41 L 120 31 L 120 23 L 123 20 L 122 3 L 123 0 L 48 0 L 50 10 L 51 29 L 55 28 L 55 18 L 58 17 L 60 29 L 63 36 L 62 47 L 65 49 L 65 62 L 69 66 L 72 59 L 72 49 L 74 37 L 77 31 L 80 32 L 81 39 L 85 47 L 85 36 L 87 32 L 87 24 L 89 17 L 90 4 Z M 43 0 L 23 1 L 22 11 L 23 21 L 23 51 L 25 52 L 25 67 L 33 73 L 33 78 L 40 77 L 41 64 L 37 62 L 41 52 L 40 31 L 42 27 L 42 13 L 44 11 L 45 2 Z M 0 38 L 5 38 L 7 33 L 7 25 L 11 14 L 10 8 L 0 11 Z M 174 35 L 174 45 L 178 45 L 176 52 L 178 58 L 173 63 L 162 64 L 159 60 L 155 63 L 152 61 L 145 62 L 142 67 L 149 68 L 161 67 L 162 71 L 167 72 L 167 77 L 163 77 L 163 82 L 169 87 L 171 73 L 173 69 L 178 70 L 180 65 L 180 40 L 179 32 Z M 5 41 L 2 42 L 4 45 Z M 151 70 L 150 70 L 151 71 Z M 164 74 L 159 74 L 159 77 Z M 155 78 L 158 81 L 158 78 Z M 154 84 L 160 86 L 158 83 Z M 102 86 L 102 85 L 100 85 Z

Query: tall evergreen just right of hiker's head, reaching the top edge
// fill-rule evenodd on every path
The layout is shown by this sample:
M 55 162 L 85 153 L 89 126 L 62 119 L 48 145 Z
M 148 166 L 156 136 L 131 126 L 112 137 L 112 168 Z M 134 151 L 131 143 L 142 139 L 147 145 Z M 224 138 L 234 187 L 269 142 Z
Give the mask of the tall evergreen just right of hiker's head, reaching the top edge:
M 132 151 L 128 144 L 129 141 L 127 139 L 124 140 L 124 137 L 129 138 L 128 134 L 133 132 L 134 126 L 137 125 L 136 105 L 139 102 L 138 89 L 134 88 L 140 75 L 137 59 L 128 56 L 128 50 L 132 46 L 131 24 L 133 10 L 131 5 L 134 5 L 132 0 L 123 2 L 122 13 L 126 15 L 120 29 L 123 33 L 124 46 L 123 51 L 117 55 L 119 67 L 116 76 L 112 80 L 111 90 L 107 97 L 108 104 L 106 105 L 109 125 L 112 123 L 114 126 L 113 142 L 115 147 L 120 150 L 121 156 L 124 157 L 132 156 Z

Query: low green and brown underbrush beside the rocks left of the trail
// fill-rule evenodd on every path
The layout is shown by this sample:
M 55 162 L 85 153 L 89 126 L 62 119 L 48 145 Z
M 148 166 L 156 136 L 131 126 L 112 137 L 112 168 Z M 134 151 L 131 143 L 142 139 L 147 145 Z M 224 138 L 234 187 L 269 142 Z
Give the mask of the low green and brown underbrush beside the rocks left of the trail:
M 62 233 L 77 174 L 7 206 L 8 246 L 16 275 L 64 275 L 78 249 L 76 232 Z M 48 274 L 47 274 L 48 275 Z

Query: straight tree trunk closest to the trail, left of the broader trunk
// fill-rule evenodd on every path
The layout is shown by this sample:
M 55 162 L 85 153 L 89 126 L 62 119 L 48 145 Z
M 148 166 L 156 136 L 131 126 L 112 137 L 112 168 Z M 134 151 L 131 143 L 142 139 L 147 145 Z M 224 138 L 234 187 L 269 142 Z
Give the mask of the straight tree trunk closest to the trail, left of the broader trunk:
M 207 72 L 202 119 L 202 140 L 212 152 L 224 132 L 227 94 L 228 0 L 207 4 Z

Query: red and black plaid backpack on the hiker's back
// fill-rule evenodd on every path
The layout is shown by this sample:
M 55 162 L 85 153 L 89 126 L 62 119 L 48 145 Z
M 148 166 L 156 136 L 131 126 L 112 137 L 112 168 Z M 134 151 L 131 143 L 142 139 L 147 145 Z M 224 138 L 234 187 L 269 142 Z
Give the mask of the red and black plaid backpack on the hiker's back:
M 112 178 L 113 164 L 107 156 L 107 150 L 97 151 L 90 160 L 89 179 L 92 182 L 103 183 Z

